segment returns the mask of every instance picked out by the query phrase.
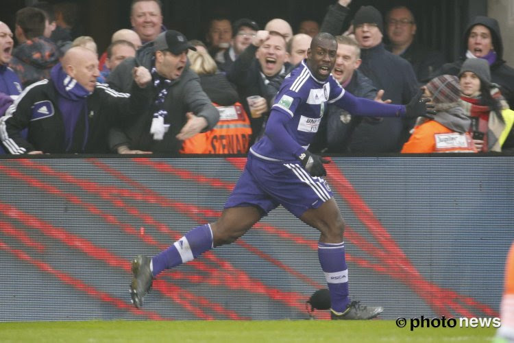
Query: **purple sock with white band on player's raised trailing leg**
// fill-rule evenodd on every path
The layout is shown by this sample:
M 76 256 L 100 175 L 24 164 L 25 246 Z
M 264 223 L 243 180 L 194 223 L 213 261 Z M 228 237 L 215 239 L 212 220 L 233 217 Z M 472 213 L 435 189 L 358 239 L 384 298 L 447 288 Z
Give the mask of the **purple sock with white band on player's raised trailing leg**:
M 212 230 L 209 224 L 197 226 L 175 241 L 172 246 L 151 259 L 152 274 L 157 276 L 162 270 L 171 269 L 182 263 L 196 259 L 212 249 Z

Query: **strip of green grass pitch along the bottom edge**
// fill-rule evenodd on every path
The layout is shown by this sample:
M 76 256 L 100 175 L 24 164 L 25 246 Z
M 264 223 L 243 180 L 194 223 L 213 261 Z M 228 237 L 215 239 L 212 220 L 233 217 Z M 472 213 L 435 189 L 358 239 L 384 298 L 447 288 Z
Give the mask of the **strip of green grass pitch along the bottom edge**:
M 0 342 L 491 342 L 496 329 L 399 329 L 394 320 L 3 322 Z

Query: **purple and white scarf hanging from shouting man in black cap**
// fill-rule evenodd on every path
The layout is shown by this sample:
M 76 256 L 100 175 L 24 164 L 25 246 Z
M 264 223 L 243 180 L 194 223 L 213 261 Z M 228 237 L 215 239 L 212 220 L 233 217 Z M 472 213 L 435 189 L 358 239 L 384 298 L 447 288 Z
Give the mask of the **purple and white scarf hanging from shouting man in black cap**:
M 156 69 L 156 58 L 155 56 L 151 60 L 151 80 L 154 82 L 154 87 L 157 91 L 156 101 L 154 103 L 154 119 L 151 120 L 150 133 L 154 135 L 154 140 L 162 141 L 164 133 L 168 128 L 164 126 L 164 117 L 168 115 L 168 111 L 164 108 L 164 100 L 168 95 L 169 87 L 172 81 L 167 78 L 162 78 Z

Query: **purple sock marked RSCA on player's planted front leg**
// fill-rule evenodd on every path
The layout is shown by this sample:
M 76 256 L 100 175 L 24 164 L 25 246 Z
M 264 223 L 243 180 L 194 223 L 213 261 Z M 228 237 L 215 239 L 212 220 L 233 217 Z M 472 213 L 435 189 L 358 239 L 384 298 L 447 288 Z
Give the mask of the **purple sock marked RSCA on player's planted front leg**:
M 318 257 L 327 279 L 332 309 L 343 312 L 350 304 L 344 242 L 338 244 L 318 243 Z

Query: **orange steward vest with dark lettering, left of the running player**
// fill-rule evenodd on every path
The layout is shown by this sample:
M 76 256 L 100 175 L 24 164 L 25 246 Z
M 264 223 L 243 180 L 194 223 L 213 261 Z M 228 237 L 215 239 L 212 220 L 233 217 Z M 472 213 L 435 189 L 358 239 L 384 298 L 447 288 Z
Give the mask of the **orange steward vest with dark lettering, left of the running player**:
M 182 144 L 181 154 L 246 154 L 252 138 L 252 126 L 243 108 L 236 102 L 230 106 L 213 105 L 219 121 L 212 130 L 199 133 Z

